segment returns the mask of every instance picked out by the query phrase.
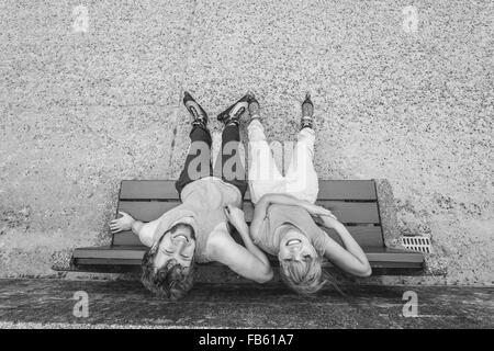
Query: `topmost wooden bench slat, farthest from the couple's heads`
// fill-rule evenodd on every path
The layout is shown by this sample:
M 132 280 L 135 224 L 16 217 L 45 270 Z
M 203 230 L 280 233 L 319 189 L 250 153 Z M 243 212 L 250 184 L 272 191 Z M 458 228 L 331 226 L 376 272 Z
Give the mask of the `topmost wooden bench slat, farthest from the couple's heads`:
M 319 180 L 319 200 L 375 201 L 375 185 L 372 180 Z M 124 180 L 121 184 L 121 200 L 179 200 L 175 181 L 171 180 Z M 246 200 L 250 200 L 247 192 Z

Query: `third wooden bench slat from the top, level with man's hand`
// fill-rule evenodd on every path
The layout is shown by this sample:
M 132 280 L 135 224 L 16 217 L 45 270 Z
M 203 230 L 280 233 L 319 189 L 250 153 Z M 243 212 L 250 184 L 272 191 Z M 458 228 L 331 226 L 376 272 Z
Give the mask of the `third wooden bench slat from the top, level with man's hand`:
M 357 242 L 361 247 L 383 247 L 381 227 L 348 227 L 348 231 L 350 231 L 351 236 L 357 240 Z M 334 229 L 326 229 L 326 233 L 336 240 L 341 244 L 339 236 L 336 234 Z M 237 240 L 237 238 L 235 238 Z M 237 240 L 238 242 L 242 242 Z M 132 231 L 123 231 L 117 233 L 113 237 L 114 246 L 141 246 L 139 238 L 133 234 Z

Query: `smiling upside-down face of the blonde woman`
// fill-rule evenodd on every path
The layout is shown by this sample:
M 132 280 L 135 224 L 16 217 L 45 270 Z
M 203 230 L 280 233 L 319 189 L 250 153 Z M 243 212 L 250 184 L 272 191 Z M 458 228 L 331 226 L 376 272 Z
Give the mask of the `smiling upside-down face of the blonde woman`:
M 284 261 L 305 261 L 317 256 L 305 235 L 297 229 L 290 229 L 280 240 L 278 258 Z

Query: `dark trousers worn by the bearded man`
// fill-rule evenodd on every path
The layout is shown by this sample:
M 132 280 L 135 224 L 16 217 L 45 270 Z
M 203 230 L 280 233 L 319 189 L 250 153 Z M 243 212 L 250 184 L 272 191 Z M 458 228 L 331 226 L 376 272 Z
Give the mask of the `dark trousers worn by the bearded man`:
M 215 176 L 224 182 L 233 184 L 240 191 L 244 197 L 247 191 L 245 169 L 242 166 L 238 146 L 240 144 L 240 133 L 238 125 L 231 124 L 223 128 L 222 149 L 216 158 L 216 165 L 211 165 L 211 134 L 207 128 L 194 125 L 190 132 L 191 146 L 187 155 L 186 165 L 175 183 L 179 195 L 182 189 L 201 178 Z

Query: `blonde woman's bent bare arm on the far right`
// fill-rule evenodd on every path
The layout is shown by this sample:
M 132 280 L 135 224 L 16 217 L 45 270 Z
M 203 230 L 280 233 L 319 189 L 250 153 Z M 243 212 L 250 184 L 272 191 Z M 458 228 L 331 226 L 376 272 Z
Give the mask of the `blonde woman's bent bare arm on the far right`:
M 372 269 L 366 253 L 347 228 L 335 218 L 328 216 L 321 216 L 321 218 L 324 226 L 336 230 L 345 246 L 343 248 L 338 242 L 327 237 L 324 250 L 325 257 L 348 273 L 357 276 L 371 275 Z

